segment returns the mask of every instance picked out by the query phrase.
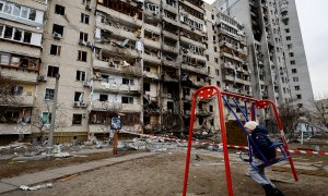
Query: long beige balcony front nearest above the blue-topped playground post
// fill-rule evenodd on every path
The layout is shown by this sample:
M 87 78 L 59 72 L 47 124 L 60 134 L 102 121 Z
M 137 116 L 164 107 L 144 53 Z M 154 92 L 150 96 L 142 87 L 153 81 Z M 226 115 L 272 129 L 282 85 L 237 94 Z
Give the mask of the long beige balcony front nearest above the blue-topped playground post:
M 120 112 L 141 112 L 140 105 L 128 105 L 120 102 L 108 102 L 108 101 L 92 101 L 92 110 L 98 111 L 120 111 Z

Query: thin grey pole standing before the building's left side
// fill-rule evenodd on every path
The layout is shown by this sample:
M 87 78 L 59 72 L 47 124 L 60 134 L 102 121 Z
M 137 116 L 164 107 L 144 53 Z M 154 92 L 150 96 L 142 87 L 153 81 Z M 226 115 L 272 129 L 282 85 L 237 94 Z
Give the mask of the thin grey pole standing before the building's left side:
M 58 97 L 58 83 L 59 83 L 59 74 L 56 74 L 56 84 L 55 84 L 55 93 L 54 93 L 54 101 L 52 101 L 52 110 L 51 110 L 51 121 L 50 121 L 50 131 L 48 137 L 48 149 L 47 157 L 50 159 L 52 152 L 52 143 L 54 143 L 54 130 L 55 130 L 55 120 L 56 120 L 56 110 L 57 110 L 57 97 Z

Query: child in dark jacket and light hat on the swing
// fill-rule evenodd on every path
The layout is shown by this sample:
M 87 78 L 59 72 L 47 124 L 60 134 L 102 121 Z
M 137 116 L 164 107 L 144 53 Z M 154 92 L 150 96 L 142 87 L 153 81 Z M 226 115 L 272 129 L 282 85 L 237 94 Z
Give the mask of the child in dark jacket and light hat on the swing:
M 268 137 L 268 130 L 259 125 L 255 121 L 248 121 L 245 125 L 245 128 L 248 134 L 251 135 L 251 139 L 255 144 L 250 144 L 253 149 L 254 146 L 258 147 L 258 150 L 265 156 L 265 158 L 270 161 L 276 158 L 276 149 L 269 148 L 272 145 L 272 142 Z M 248 167 L 248 173 L 250 177 L 262 185 L 266 191 L 266 196 L 283 196 L 281 191 L 279 191 L 276 185 L 269 180 L 265 173 L 265 164 L 262 157 L 257 150 L 253 150 L 254 158 L 251 160 L 251 166 Z

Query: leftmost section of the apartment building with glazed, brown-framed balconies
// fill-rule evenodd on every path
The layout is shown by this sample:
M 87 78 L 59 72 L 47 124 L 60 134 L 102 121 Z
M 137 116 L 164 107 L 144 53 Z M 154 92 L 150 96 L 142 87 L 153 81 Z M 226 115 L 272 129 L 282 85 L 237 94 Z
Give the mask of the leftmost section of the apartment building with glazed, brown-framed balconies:
M 0 1 L 0 144 L 32 133 L 46 9 L 42 0 Z

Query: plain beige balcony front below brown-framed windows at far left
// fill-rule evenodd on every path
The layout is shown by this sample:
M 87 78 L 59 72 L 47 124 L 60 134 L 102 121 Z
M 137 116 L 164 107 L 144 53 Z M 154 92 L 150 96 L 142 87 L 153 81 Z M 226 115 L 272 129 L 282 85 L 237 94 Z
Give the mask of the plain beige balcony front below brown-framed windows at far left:
M 1 68 L 1 75 L 10 77 L 14 81 L 27 82 L 27 83 L 37 83 L 37 73 L 28 70 L 13 70 L 13 69 L 3 69 Z

